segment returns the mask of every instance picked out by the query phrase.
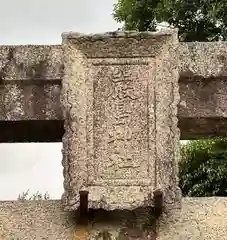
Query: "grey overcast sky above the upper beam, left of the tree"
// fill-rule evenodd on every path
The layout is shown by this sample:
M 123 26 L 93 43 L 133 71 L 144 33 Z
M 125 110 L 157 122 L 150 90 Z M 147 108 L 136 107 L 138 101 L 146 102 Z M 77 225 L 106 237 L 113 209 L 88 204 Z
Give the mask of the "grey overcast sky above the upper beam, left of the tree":
M 116 0 L 0 0 L 0 44 L 55 44 L 61 33 L 116 30 Z

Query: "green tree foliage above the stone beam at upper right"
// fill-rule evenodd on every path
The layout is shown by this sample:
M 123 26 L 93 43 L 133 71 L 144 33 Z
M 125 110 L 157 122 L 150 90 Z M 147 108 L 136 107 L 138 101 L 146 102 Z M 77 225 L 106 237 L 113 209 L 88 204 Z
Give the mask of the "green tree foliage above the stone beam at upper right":
M 167 22 L 180 41 L 227 39 L 227 0 L 118 0 L 113 16 L 125 30 L 154 31 Z

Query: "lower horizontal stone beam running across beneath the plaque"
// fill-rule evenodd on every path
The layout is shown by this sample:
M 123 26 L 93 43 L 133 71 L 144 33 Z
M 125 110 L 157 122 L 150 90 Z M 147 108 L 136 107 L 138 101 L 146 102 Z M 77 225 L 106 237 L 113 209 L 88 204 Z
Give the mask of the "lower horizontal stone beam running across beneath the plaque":
M 89 240 L 155 239 L 155 226 L 148 215 L 149 211 L 97 210 L 88 226 Z M 73 234 L 76 239 L 77 234 L 82 240 L 78 233 L 87 228 L 79 227 L 76 219 L 62 210 L 60 201 L 0 202 L 0 239 L 67 240 L 73 239 Z M 159 240 L 226 240 L 227 199 L 183 198 L 181 211 L 162 219 L 156 232 Z

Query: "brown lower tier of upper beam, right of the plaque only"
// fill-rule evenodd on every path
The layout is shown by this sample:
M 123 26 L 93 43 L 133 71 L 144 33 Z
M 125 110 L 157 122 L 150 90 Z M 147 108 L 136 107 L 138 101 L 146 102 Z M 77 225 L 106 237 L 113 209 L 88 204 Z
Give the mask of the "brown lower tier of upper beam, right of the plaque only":
M 226 136 L 227 77 L 180 79 L 181 139 Z

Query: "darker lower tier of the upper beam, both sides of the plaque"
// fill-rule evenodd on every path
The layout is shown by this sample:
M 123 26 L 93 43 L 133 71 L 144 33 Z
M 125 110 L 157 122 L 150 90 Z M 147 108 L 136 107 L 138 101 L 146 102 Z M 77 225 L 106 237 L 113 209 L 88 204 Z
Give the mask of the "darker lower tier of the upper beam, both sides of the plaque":
M 61 141 L 64 133 L 59 103 L 61 83 L 55 80 L 48 83 L 40 80 L 40 84 L 28 82 L 20 81 L 16 86 L 14 83 L 0 85 L 0 142 Z M 182 77 L 179 88 L 181 139 L 226 136 L 227 109 L 223 107 L 226 105 L 225 78 Z M 10 103 L 7 99 L 11 99 Z M 19 109 L 20 114 L 15 109 Z

